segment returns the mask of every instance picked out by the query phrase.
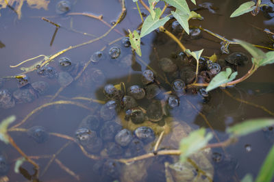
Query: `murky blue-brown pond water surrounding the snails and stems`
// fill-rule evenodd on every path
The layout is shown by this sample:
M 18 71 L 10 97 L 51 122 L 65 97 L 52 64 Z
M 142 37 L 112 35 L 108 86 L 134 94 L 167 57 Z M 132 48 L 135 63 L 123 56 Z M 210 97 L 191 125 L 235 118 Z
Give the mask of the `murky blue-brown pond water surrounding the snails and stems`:
M 0 77 L 20 75 L 21 66 L 32 66 L 43 57 L 16 68 L 10 65 L 37 55 L 54 55 L 102 36 L 121 13 L 118 0 L 71 0 L 71 10 L 65 14 L 56 12 L 59 1 L 40 2 L 49 3 L 47 10 L 29 8 L 25 2 L 21 19 L 12 8 L 1 9 Z M 273 30 L 273 19 L 266 18 L 262 12 L 257 16 L 245 14 L 229 18 L 245 1 L 197 0 L 198 4 L 205 2 L 212 3 L 214 13 L 197 10 L 204 20 L 192 20 L 191 26 L 201 25 L 229 40 L 238 38 L 273 48 L 273 42 L 262 31 Z M 16 8 L 16 3 L 11 7 Z M 137 29 L 141 20 L 135 3 L 126 1 L 126 8 L 123 21 L 107 36 L 66 51 L 49 65 L 27 73 L 27 81 L 32 85 L 25 86 L 24 78 L 0 80 L 1 94 L 10 96 L 5 104 L 1 103 L 0 120 L 16 115 L 13 124 L 16 127 L 9 133 L 22 151 L 40 166 L 40 181 L 182 180 L 168 167 L 177 160 L 174 156 L 155 156 L 127 166 L 118 160 L 153 152 L 162 131 L 164 139 L 160 150 L 176 149 L 179 140 L 191 129 L 206 127 L 215 133 L 210 141 L 215 143 L 228 138 L 225 129 L 230 125 L 250 118 L 273 117 L 273 65 L 259 68 L 252 77 L 233 88 L 213 90 L 209 99 L 203 90 L 179 90 L 180 83 L 175 80 L 191 83 L 195 78 L 192 74 L 195 63 L 186 61 L 176 42 L 159 31 L 142 38 L 142 57 L 132 53 L 123 38 L 128 29 Z M 63 10 L 66 11 L 66 7 Z M 141 11 L 147 13 L 144 8 Z M 79 15 L 87 12 L 102 15 L 104 22 Z M 42 17 L 60 26 L 57 33 L 55 25 L 43 21 Z M 193 31 L 191 37 L 186 36 L 172 29 L 173 21 L 166 23 L 166 29 L 181 38 L 188 49 L 204 49 L 203 56 L 208 57 L 216 53 L 219 63 L 225 63 L 222 60 L 229 55 L 221 53 L 219 39 L 205 31 L 201 31 L 201 35 Z M 238 46 L 231 46 L 229 51 L 230 55 L 235 52 L 247 55 L 244 66 L 234 66 L 239 76 L 245 75 L 251 67 L 251 55 Z M 68 59 L 60 60 L 61 57 Z M 208 74 L 207 68 L 204 69 L 204 74 Z M 152 70 L 147 71 L 148 77 L 143 76 L 145 70 Z M 178 90 L 173 89 L 169 94 L 172 85 Z M 127 97 L 123 98 L 125 92 Z M 196 156 L 193 159 L 196 164 L 184 166 L 183 176 L 186 177 L 183 179 L 192 181 L 201 170 L 208 172 L 202 173 L 206 181 L 212 178 L 214 181 L 240 181 L 247 173 L 256 177 L 273 142 L 273 129 L 266 129 L 242 137 L 226 148 L 212 148 L 210 153 Z M 24 163 L 18 174 L 14 172 L 20 155 L 12 146 L 1 142 L 0 153 L 0 159 L 9 166 L 5 170 L 4 162 L 0 164 L 3 164 L 1 175 L 6 175 L 10 181 L 34 180 L 34 169 L 29 163 Z

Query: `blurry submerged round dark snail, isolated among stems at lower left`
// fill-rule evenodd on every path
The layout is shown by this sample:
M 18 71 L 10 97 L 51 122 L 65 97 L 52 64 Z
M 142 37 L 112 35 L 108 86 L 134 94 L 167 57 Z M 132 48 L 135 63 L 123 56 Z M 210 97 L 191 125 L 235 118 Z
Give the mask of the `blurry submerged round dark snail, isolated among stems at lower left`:
M 27 135 L 34 139 L 35 142 L 38 144 L 42 144 L 46 142 L 49 138 L 49 133 L 45 130 L 44 127 L 35 126 L 27 131 Z

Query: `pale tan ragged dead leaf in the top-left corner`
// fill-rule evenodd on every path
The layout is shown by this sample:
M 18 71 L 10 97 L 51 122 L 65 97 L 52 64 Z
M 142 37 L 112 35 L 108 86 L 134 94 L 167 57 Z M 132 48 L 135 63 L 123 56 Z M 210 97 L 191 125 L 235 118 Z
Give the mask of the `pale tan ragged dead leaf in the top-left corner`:
M 49 5 L 49 0 L 0 0 L 0 10 L 7 8 L 8 5 L 14 7 L 14 11 L 18 15 L 18 19 L 21 18 L 22 13 L 21 13 L 21 8 L 23 6 L 24 1 L 27 1 L 27 5 L 29 5 L 30 8 L 36 8 L 40 9 L 43 8 L 47 10 L 47 6 Z M 7 3 L 8 2 L 8 3 Z

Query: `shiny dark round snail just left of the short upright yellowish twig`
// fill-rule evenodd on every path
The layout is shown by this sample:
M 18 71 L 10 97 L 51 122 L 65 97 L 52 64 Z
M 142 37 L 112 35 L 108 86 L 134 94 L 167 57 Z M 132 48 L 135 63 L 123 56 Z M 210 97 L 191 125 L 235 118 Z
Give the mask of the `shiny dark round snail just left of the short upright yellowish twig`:
M 145 144 L 153 142 L 155 139 L 154 131 L 149 127 L 138 127 L 134 131 L 134 135 L 136 135 L 136 137 L 142 140 Z

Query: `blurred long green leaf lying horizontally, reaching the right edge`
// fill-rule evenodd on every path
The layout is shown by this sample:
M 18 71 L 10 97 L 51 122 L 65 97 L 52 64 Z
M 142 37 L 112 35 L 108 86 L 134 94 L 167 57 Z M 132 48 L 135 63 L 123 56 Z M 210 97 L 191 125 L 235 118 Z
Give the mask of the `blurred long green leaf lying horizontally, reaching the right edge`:
M 258 131 L 263 129 L 264 127 L 269 127 L 274 125 L 274 119 L 253 119 L 247 120 L 245 122 L 241 122 L 240 124 L 234 125 L 233 127 L 229 127 L 227 129 L 227 133 L 231 135 L 235 135 L 236 137 L 242 135 L 248 135 L 254 131 Z

